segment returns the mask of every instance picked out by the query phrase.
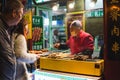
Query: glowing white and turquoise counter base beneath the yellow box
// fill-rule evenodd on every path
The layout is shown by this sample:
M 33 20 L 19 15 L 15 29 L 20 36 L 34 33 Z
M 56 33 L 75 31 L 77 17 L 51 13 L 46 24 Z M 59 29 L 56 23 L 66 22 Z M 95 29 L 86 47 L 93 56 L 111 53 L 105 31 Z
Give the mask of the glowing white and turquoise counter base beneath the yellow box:
M 32 80 L 100 80 L 100 77 L 63 73 L 48 70 L 36 70 Z

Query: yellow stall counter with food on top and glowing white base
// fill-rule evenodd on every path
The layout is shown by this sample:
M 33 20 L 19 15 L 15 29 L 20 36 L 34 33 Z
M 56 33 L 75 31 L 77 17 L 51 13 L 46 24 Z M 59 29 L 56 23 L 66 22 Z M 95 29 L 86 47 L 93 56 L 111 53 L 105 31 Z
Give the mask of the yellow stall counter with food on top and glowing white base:
M 33 80 L 100 80 L 104 60 L 69 57 L 69 50 L 42 50 Z

